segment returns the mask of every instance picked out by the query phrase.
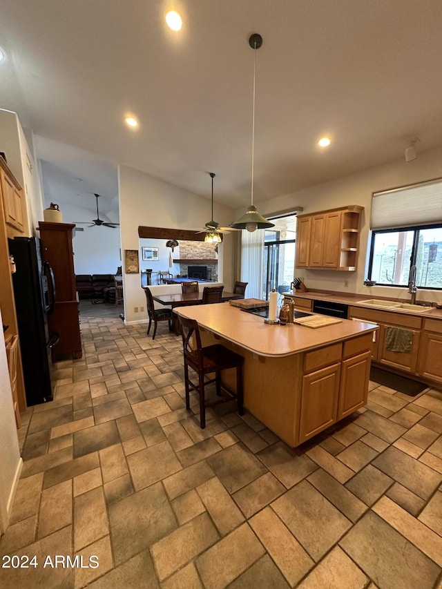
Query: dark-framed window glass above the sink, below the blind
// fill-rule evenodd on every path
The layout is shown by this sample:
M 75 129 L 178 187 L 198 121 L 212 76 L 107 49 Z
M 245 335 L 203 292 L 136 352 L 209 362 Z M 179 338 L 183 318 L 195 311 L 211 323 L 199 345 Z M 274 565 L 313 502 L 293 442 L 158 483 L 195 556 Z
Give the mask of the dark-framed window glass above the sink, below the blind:
M 416 286 L 442 289 L 442 224 L 373 231 L 369 280 L 407 287 L 416 266 Z

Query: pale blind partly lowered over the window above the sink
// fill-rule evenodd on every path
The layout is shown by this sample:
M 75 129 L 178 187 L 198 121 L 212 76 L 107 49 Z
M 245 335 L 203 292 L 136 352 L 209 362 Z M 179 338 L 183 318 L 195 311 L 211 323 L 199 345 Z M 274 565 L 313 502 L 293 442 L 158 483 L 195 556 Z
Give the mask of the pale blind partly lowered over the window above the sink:
M 442 180 L 373 194 L 371 229 L 442 223 Z

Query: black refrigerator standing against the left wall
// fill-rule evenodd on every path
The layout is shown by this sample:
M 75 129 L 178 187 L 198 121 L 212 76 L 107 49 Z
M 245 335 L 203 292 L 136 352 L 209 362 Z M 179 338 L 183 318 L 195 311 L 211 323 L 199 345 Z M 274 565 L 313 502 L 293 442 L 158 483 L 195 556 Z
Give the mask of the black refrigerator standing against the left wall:
M 16 271 L 12 274 L 19 327 L 21 363 L 28 405 L 53 399 L 50 384 L 50 348 L 58 334 L 48 334 L 47 315 L 55 304 L 52 269 L 41 260 L 39 238 L 8 240 Z

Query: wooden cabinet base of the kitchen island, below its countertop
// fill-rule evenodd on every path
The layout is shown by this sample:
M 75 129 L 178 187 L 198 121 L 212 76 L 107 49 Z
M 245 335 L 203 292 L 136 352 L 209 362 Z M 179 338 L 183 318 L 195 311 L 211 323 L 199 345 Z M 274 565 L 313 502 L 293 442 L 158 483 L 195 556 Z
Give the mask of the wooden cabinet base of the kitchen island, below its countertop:
M 367 401 L 372 331 L 282 357 L 257 356 L 205 329 L 201 335 L 204 346 L 222 343 L 244 357 L 244 407 L 291 447 Z M 235 390 L 235 376 L 227 370 L 221 378 Z

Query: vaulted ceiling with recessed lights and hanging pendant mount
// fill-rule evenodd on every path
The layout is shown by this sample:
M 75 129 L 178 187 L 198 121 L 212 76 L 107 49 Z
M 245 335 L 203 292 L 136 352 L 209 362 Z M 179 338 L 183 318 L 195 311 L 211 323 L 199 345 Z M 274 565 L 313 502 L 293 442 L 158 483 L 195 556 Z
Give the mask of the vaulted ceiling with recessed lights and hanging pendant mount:
M 215 200 L 249 203 L 253 32 L 257 202 L 442 142 L 440 0 L 1 5 L 0 108 L 37 135 L 48 197 L 86 176 L 111 206 L 122 163 L 207 197 L 214 171 Z

